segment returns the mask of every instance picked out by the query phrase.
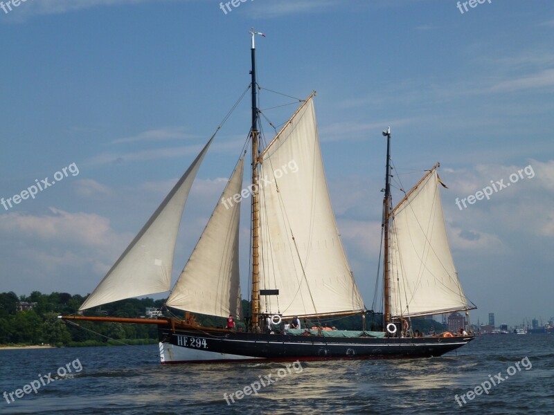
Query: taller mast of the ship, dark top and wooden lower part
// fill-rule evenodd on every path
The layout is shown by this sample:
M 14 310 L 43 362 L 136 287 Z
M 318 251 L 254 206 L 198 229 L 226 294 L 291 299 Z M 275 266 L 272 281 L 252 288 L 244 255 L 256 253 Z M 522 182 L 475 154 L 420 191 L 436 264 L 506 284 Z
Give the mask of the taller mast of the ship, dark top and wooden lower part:
M 251 327 L 259 326 L 258 318 L 260 315 L 260 202 L 259 202 L 259 187 L 258 187 L 258 107 L 256 100 L 256 45 L 254 37 L 262 35 L 262 33 L 250 30 L 252 35 L 251 60 L 252 69 L 252 295 L 251 295 Z

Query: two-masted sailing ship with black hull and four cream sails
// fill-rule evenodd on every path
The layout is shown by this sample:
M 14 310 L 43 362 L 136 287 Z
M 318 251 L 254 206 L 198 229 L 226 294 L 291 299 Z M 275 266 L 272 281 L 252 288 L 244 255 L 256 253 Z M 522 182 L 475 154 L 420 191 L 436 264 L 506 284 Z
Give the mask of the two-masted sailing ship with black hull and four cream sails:
M 170 290 L 181 216 L 199 166 L 214 140 L 212 136 L 84 301 L 80 313 L 61 318 L 157 324 L 163 364 L 418 358 L 440 356 L 470 342 L 473 335 L 413 337 L 406 327 L 412 317 L 454 311 L 467 315 L 475 307 L 463 293 L 449 249 L 438 165 L 395 208 L 392 206 L 390 128 L 384 131 L 384 311 L 381 330 L 366 330 L 366 314 L 373 311 L 361 298 L 332 210 L 316 127 L 315 93 L 303 100 L 283 128 L 262 147 L 254 42 L 260 33 L 251 30 L 250 34 L 250 185 L 242 188 L 245 155 L 241 152 L 202 236 Z M 239 224 L 240 204 L 246 196 L 251 196 L 247 329 L 201 326 L 191 316 L 242 318 Z M 166 315 L 157 318 L 82 315 L 82 311 L 102 304 L 168 291 Z M 185 311 L 185 317 L 169 313 L 175 310 Z M 321 328 L 322 319 L 348 315 L 361 315 L 361 331 Z M 278 330 L 282 320 L 292 318 L 316 322 L 316 326 Z

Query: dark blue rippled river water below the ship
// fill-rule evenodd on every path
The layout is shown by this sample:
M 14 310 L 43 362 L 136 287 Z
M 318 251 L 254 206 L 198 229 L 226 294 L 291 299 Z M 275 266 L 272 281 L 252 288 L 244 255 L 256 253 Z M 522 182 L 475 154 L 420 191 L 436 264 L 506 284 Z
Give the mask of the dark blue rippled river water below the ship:
M 0 394 L 40 385 L 2 414 L 552 414 L 554 335 L 488 335 L 458 352 L 418 360 L 160 365 L 157 345 L 0 350 Z M 525 360 L 525 358 L 529 360 Z M 521 362 L 524 360 L 524 362 Z M 515 366 L 519 363 L 519 371 Z M 530 362 L 530 369 L 527 362 Z M 69 364 L 69 369 L 66 365 Z M 289 364 L 290 365 L 290 364 Z M 80 370 L 78 370 L 80 369 Z M 280 370 L 279 370 L 280 369 Z M 509 371 L 508 371 L 509 370 Z M 489 394 L 459 398 L 501 372 Z M 63 374 L 63 370 L 60 370 Z M 258 394 L 229 398 L 260 382 Z M 280 378 L 279 375 L 283 377 Z M 498 379 L 496 379 L 498 382 Z M 253 387 L 257 388 L 258 385 Z M 488 385 L 485 384 L 485 387 Z M 249 389 L 247 389 L 249 391 Z M 224 400 L 227 394 L 230 405 Z M 462 407 L 454 398 L 458 395 Z M 9 396 L 8 396 L 9 400 Z

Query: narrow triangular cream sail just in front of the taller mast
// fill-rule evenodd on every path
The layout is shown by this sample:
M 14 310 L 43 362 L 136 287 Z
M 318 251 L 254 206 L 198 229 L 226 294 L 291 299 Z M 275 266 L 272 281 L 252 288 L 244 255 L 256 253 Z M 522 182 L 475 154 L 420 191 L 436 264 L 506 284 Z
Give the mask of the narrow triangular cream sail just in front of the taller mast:
M 194 313 L 240 317 L 238 230 L 242 169 L 240 159 L 220 202 L 177 280 L 166 305 Z

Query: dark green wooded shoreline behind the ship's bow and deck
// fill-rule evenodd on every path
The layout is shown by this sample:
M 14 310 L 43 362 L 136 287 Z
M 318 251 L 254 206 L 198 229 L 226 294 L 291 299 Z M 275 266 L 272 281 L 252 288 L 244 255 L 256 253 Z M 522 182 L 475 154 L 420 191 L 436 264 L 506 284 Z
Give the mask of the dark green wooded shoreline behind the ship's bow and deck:
M 50 344 L 56 347 L 100 346 L 108 344 L 148 344 L 157 342 L 157 326 L 152 324 L 122 324 L 109 322 L 65 322 L 58 315 L 71 315 L 78 312 L 86 297 L 69 293 L 42 294 L 33 291 L 30 295 L 17 296 L 13 292 L 0 293 L 0 345 L 9 344 Z M 123 299 L 99 308 L 85 311 L 84 315 L 109 315 L 110 317 L 143 317 L 148 307 L 161 308 L 163 299 L 154 300 Z M 31 304 L 28 309 L 27 305 Z M 32 308 L 31 308 L 32 307 Z M 242 300 L 245 314 L 249 302 Z M 184 318 L 184 313 L 170 310 L 176 317 Z M 224 327 L 222 317 L 195 315 L 198 324 L 208 327 Z M 303 326 L 336 326 L 339 330 L 361 330 L 361 316 L 336 317 L 335 320 L 308 320 Z M 366 314 L 366 330 L 382 330 L 382 314 Z M 442 324 L 425 319 L 413 319 L 413 329 L 426 333 L 429 330 L 442 331 Z M 243 322 L 237 324 L 246 329 Z

